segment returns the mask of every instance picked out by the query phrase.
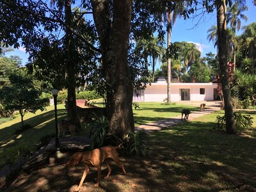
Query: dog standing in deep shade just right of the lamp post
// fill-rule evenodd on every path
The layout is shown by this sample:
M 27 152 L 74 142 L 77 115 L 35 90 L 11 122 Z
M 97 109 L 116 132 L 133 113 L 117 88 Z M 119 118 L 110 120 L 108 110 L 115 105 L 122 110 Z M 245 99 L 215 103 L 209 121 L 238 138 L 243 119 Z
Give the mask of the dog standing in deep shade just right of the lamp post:
M 63 119 L 58 123 L 58 138 L 60 138 L 60 132 L 62 133 L 62 137 L 65 136 L 65 131 L 69 131 L 71 137 L 74 138 L 76 135 L 76 127 L 77 125 L 70 120 Z

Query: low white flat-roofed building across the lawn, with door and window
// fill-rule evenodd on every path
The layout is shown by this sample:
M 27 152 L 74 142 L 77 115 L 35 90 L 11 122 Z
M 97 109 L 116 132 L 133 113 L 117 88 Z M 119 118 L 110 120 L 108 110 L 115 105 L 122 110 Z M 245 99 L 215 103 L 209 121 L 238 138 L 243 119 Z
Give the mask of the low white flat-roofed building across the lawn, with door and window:
M 217 83 L 171 83 L 171 101 L 218 100 Z M 157 83 L 147 85 L 145 90 L 138 90 L 133 95 L 134 102 L 163 102 L 167 99 L 167 83 L 159 77 Z

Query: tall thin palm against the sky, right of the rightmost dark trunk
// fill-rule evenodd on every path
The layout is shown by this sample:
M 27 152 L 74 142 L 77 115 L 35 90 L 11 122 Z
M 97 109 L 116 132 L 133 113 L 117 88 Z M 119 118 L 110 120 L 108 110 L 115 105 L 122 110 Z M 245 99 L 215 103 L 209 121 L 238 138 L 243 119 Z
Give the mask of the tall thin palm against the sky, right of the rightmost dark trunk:
M 234 52 L 234 70 L 236 70 L 236 30 L 241 28 L 241 19 L 247 21 L 248 18 L 242 12 L 248 10 L 248 6 L 245 6 L 245 2 L 236 1 L 231 7 L 227 9 L 227 22 L 230 22 L 230 28 L 233 33 L 230 33 L 230 42 L 232 42 L 232 51 Z

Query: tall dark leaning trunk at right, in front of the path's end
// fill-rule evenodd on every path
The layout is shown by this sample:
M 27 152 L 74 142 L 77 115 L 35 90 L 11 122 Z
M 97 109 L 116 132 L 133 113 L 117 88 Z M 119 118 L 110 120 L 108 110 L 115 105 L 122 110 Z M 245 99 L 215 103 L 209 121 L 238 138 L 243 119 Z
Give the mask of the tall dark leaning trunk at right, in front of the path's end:
M 228 80 L 227 69 L 227 15 L 225 0 L 217 0 L 217 26 L 218 26 L 218 56 L 220 63 L 220 80 L 223 92 L 226 116 L 226 132 L 229 134 L 236 133 L 236 124 L 233 115 L 230 85 Z

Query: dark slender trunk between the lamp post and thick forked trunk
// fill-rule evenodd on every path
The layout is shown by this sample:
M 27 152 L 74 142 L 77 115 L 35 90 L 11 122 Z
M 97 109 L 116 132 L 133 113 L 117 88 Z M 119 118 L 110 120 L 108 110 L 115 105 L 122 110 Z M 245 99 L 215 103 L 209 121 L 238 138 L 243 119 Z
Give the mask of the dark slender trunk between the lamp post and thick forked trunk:
M 65 23 L 67 26 L 72 26 L 72 10 L 70 0 L 65 0 Z M 67 88 L 68 88 L 68 119 L 72 122 L 78 123 L 77 108 L 76 108 L 76 64 L 72 61 L 71 51 L 74 49 L 72 42 L 72 31 L 70 28 L 66 29 L 65 38 L 65 53 L 66 53 L 66 67 L 67 67 Z

